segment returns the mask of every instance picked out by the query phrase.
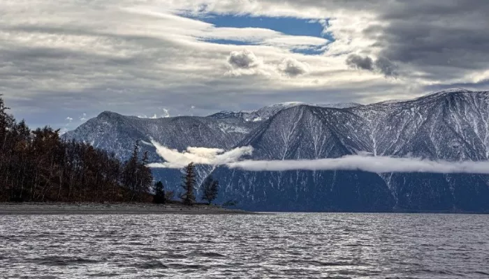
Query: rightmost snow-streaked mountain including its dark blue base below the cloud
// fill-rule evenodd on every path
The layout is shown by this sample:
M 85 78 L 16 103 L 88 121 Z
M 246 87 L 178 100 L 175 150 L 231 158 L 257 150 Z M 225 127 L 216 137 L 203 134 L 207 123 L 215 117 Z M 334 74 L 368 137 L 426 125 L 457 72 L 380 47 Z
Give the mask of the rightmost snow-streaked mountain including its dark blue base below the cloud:
M 489 93 L 448 90 L 416 100 L 351 110 L 370 123 L 373 153 L 431 160 L 488 160 Z M 381 174 L 397 206 L 417 210 L 488 209 L 488 176 Z

